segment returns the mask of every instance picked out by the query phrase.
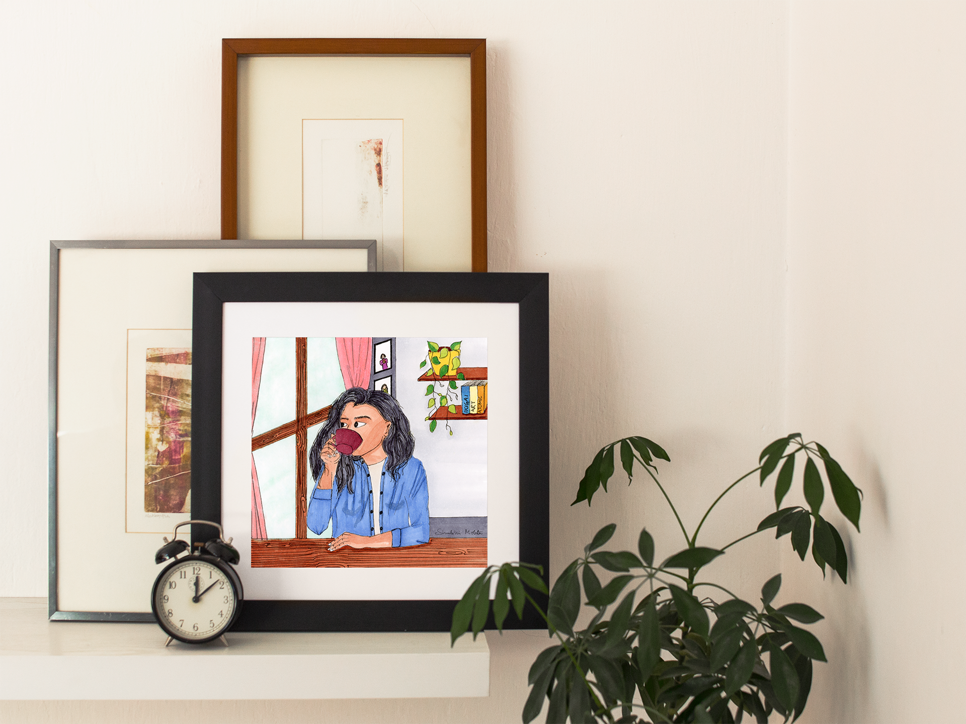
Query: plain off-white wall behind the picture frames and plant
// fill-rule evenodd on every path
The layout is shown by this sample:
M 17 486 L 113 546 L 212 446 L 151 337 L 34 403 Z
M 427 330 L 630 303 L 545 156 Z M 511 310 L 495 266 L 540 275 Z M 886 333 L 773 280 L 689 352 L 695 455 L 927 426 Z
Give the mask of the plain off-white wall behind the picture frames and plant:
M 801 428 L 840 451 L 867 491 L 855 588 L 819 587 L 817 570 L 785 562 L 810 600 L 822 598 L 838 656 L 820 667 L 810 720 L 858 721 L 876 696 L 869 721 L 928 706 L 909 696 L 917 703 L 903 710 L 891 694 L 910 657 L 919 666 L 906 690 L 951 679 L 937 639 L 958 635 L 960 584 L 934 584 L 931 624 L 921 614 L 914 627 L 908 608 L 929 599 L 924 583 L 956 572 L 938 523 L 952 524 L 961 497 L 946 451 L 963 432 L 952 382 L 964 348 L 962 16 L 951 2 L 820 2 L 790 18 L 789 7 L 7 3 L 0 595 L 45 593 L 47 241 L 217 235 L 220 39 L 485 37 L 490 268 L 552 274 L 552 572 L 611 519 L 616 544 L 646 523 L 661 552 L 680 545 L 651 487 L 617 484 L 589 511 L 569 507 L 603 443 L 639 433 L 665 445 L 673 464 L 662 477 L 693 527 L 763 444 Z M 932 451 L 948 461 L 925 459 Z M 767 492 L 739 488 L 706 543 L 768 510 Z M 779 570 L 778 550 L 755 541 L 716 566 L 753 596 Z M 922 572 L 903 578 L 913 567 Z M 923 628 L 930 640 L 917 644 Z M 528 659 L 545 639 L 489 640 L 484 702 L 203 710 L 233 722 L 321 710 L 519 721 Z M 197 710 L 0 703 L 0 718 L 159 722 Z

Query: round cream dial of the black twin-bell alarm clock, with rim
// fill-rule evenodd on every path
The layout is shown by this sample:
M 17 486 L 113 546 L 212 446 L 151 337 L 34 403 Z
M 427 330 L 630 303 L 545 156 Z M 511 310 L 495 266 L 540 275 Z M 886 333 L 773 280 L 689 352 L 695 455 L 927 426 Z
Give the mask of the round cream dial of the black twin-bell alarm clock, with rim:
M 202 643 L 231 626 L 238 598 L 225 571 L 187 556 L 161 571 L 152 603 L 161 628 L 181 641 Z

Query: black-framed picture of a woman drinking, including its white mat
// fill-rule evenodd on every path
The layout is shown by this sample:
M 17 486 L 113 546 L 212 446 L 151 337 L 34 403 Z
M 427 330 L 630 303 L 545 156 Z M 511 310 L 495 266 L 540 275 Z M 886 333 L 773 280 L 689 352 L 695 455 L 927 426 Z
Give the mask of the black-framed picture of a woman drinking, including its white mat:
M 486 566 L 547 571 L 546 274 L 198 273 L 192 350 L 237 629 L 448 630 Z

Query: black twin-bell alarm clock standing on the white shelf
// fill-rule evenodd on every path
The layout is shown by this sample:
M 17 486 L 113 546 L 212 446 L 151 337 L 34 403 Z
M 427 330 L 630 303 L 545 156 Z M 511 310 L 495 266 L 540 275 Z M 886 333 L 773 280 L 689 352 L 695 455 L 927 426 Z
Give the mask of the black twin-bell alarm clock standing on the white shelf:
M 179 558 L 190 546 L 178 540 L 178 529 L 191 524 L 217 528 L 218 537 L 195 543 L 194 552 Z M 239 562 L 239 552 L 232 539 L 224 540 L 221 526 L 209 520 L 185 520 L 175 526 L 171 541 L 163 540 L 155 563 L 171 563 L 157 574 L 151 610 L 157 625 L 168 634 L 164 645 L 174 639 L 186 644 L 213 641 L 232 627 L 241 612 L 241 578 L 232 568 Z M 221 640 L 228 645 L 224 637 Z

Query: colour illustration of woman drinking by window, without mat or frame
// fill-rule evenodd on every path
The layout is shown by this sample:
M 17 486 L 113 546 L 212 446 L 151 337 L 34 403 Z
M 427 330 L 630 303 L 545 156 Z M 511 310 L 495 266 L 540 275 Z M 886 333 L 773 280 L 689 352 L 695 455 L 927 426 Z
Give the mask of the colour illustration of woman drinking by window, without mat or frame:
M 251 565 L 485 567 L 486 376 L 486 338 L 254 338 Z

